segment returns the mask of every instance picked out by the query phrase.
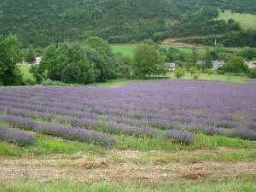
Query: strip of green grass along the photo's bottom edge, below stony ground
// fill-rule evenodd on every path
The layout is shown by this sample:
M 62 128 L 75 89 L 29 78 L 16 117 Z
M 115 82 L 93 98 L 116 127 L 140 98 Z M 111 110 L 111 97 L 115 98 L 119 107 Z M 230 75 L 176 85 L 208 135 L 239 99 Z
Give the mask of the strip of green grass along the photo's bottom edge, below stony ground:
M 192 184 L 192 183 L 191 183 Z M 184 186 L 182 183 L 177 183 L 172 186 L 169 183 L 165 183 L 164 185 L 158 185 L 156 189 L 153 191 L 160 192 L 226 192 L 226 191 L 255 191 L 256 184 L 254 183 L 239 183 L 236 181 L 219 183 L 219 184 L 207 184 L 204 186 L 203 184 L 197 186 Z M 149 192 L 152 190 L 144 189 L 142 187 L 137 186 L 124 186 L 122 184 L 108 184 L 108 183 L 96 183 L 93 185 L 86 185 L 84 183 L 74 183 L 69 182 L 67 180 L 55 181 L 51 183 L 37 183 L 33 181 L 23 182 L 23 183 L 1 183 L 0 191 L 8 191 L 8 192 Z

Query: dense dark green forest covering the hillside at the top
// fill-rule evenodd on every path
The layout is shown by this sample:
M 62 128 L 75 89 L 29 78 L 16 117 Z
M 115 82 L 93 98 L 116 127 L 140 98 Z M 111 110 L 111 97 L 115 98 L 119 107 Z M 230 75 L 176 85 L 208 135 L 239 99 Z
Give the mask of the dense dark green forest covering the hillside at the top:
M 256 14 L 256 0 L 2 0 L 0 34 L 45 47 L 92 35 L 132 43 L 241 31 L 236 22 L 213 20 L 218 8 Z

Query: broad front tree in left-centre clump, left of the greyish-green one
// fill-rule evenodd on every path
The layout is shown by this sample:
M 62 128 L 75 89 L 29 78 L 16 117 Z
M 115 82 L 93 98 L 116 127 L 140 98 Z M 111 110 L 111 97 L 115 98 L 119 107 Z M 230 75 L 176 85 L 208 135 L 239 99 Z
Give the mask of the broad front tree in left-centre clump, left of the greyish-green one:
M 35 71 L 40 72 L 43 77 L 46 73 L 46 78 L 68 84 L 95 82 L 95 74 L 91 74 L 94 71 L 92 65 L 86 57 L 84 46 L 79 43 L 50 45 Z M 36 73 L 34 77 L 37 79 Z M 38 77 L 40 79 L 39 75 Z

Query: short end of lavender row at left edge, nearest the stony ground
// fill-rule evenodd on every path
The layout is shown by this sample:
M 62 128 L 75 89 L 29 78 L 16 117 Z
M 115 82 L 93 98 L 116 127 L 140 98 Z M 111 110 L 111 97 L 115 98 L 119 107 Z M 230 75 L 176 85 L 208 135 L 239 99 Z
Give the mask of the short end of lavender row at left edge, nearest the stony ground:
M 20 147 L 26 147 L 35 143 L 35 137 L 25 131 L 13 131 L 0 126 L 0 140 L 15 143 Z

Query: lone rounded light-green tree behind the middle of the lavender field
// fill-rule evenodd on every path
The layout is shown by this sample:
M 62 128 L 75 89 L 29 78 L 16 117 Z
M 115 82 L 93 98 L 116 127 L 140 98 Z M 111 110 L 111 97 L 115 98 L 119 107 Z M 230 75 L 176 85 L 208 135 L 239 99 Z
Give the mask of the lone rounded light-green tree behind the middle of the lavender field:
M 135 49 L 132 72 L 137 79 L 167 73 L 166 57 L 154 45 L 139 44 Z

